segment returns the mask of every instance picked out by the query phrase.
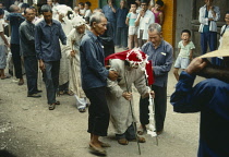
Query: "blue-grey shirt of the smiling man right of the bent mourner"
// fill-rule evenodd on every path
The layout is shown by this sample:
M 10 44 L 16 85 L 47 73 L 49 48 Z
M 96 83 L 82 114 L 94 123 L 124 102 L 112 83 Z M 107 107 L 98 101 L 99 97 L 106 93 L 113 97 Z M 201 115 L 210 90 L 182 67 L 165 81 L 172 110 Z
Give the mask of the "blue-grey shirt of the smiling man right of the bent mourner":
M 142 51 L 148 55 L 148 60 L 152 60 L 155 76 L 154 85 L 160 87 L 167 86 L 168 72 L 171 70 L 172 65 L 172 46 L 161 40 L 159 47 L 155 49 L 153 44 L 148 41 L 143 45 Z

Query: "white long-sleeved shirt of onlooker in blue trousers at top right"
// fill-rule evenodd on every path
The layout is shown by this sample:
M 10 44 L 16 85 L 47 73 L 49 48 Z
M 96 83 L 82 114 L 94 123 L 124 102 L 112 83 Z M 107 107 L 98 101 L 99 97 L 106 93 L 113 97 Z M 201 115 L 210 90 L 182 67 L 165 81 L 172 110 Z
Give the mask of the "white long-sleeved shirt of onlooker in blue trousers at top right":
M 209 23 L 209 31 L 217 32 L 217 24 L 216 22 L 220 19 L 220 11 L 218 7 L 214 7 L 214 11 L 216 12 L 216 17 L 213 16 L 212 11 L 208 11 L 208 17 L 205 17 L 206 13 L 206 4 L 200 9 L 198 22 L 201 23 L 200 33 L 203 33 L 204 25 L 208 25 L 208 19 L 214 19 Z

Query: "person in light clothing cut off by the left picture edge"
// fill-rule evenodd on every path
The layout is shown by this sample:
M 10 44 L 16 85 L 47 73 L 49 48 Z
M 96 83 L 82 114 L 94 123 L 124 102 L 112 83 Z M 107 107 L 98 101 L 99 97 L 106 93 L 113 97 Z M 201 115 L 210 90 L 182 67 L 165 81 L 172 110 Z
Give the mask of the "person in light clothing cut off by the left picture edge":
M 10 47 L 5 36 L 4 36 L 4 27 L 3 27 L 3 19 L 4 10 L 0 9 L 0 77 L 1 80 L 9 78 L 9 76 L 4 75 L 4 69 L 7 67 L 7 47 Z M 7 46 L 7 47 L 5 47 Z

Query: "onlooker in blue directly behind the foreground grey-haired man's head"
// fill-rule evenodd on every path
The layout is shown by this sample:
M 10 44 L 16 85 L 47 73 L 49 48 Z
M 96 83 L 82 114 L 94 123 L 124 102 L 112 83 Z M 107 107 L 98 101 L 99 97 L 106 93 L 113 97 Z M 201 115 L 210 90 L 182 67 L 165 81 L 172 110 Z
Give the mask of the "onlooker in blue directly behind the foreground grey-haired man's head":
M 116 27 L 117 27 L 117 17 L 116 17 L 117 8 L 113 5 L 112 0 L 107 0 L 107 4 L 103 8 L 103 12 L 107 17 L 108 22 L 110 22 L 113 29 L 113 41 L 116 44 Z

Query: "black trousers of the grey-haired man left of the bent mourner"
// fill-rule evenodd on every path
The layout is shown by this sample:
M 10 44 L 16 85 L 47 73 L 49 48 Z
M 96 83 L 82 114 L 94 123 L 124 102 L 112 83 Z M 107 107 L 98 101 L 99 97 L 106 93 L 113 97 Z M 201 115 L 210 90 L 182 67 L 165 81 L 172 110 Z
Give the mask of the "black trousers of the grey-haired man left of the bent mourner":
M 106 87 L 91 88 L 84 92 L 91 101 L 87 132 L 107 136 L 110 113 L 106 100 Z

